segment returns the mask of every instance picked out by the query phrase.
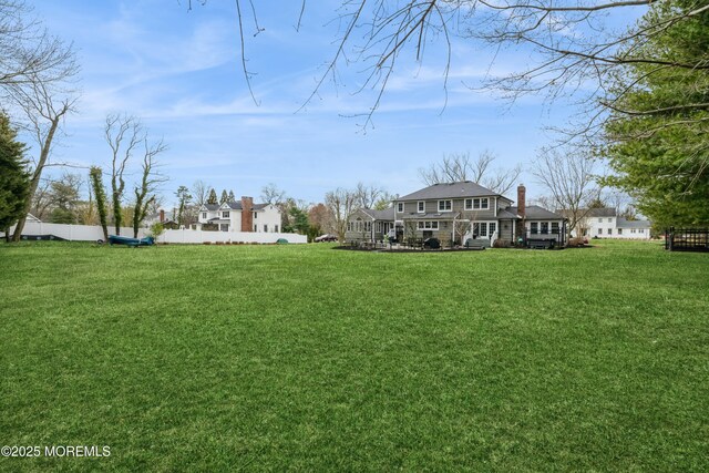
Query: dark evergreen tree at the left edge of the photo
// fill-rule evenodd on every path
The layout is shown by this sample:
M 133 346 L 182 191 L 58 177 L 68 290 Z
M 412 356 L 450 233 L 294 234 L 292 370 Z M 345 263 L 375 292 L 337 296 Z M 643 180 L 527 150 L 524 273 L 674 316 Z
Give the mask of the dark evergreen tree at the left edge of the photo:
M 0 112 L 0 229 L 7 230 L 24 212 L 30 191 L 30 175 L 25 171 L 24 143 L 17 141 L 17 132 L 7 115 Z

